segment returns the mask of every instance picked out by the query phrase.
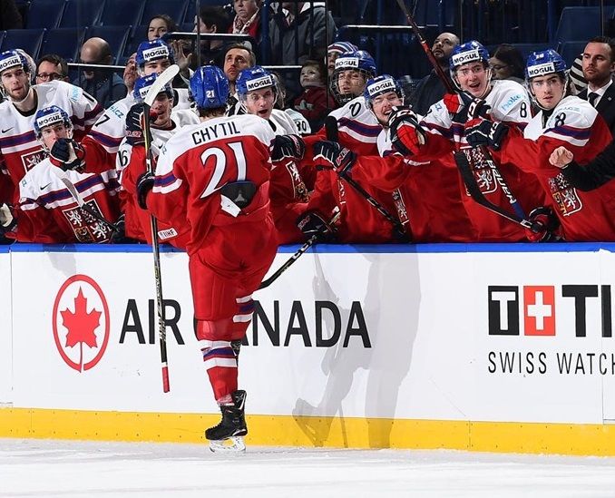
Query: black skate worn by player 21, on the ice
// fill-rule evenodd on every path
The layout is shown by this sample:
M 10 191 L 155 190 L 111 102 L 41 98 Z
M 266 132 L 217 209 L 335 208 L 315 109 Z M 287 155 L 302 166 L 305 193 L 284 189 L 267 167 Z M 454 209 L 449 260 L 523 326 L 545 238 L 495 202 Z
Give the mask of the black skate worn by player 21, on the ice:
M 246 426 L 245 405 L 246 391 L 237 390 L 231 393 L 233 405 L 221 405 L 222 420 L 219 425 L 205 431 L 205 437 L 210 440 L 212 452 L 246 451 L 243 436 L 248 434 Z

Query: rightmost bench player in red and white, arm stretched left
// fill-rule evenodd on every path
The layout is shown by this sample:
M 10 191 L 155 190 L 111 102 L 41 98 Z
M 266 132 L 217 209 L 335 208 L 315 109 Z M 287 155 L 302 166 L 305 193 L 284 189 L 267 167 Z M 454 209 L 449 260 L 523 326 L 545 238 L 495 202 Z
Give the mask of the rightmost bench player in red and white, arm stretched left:
M 609 127 L 590 103 L 566 95 L 566 63 L 557 52 L 530 54 L 525 77 L 541 111 L 523 131 L 479 120 L 469 130 L 468 142 L 501 147 L 503 161 L 538 177 L 566 240 L 615 240 L 615 185 L 607 183 L 588 192 L 575 189 L 549 162 L 552 151 L 561 145 L 574 151 L 578 161 L 591 161 L 610 143 Z

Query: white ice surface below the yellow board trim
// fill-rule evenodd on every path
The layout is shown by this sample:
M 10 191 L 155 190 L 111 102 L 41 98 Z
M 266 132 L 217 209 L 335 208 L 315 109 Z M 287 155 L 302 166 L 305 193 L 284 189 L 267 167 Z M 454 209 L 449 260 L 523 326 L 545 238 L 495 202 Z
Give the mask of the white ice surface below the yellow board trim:
M 615 458 L 0 439 L 0 496 L 602 498 Z

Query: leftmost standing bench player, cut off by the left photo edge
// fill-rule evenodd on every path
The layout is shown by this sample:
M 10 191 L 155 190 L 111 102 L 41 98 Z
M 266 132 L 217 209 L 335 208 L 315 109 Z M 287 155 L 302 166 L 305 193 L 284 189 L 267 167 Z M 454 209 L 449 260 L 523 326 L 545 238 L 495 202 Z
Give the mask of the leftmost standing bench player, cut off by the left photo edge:
M 93 97 L 78 86 L 60 81 L 33 86 L 30 71 L 26 59 L 18 51 L 0 54 L 0 84 L 7 97 L 0 103 L 0 169 L 8 175 L 2 175 L 4 181 L 10 178 L 15 189 L 24 174 L 44 159 L 43 147 L 34 133 L 37 110 L 50 105 L 64 109 L 73 123 L 77 141 L 102 112 Z

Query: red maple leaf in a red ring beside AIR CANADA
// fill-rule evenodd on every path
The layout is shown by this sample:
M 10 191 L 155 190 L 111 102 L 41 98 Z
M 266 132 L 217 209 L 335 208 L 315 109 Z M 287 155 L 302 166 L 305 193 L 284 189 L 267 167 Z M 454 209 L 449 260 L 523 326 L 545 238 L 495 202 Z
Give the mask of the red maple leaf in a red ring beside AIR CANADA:
M 109 342 L 109 308 L 102 289 L 86 275 L 68 278 L 54 302 L 54 339 L 66 365 L 95 366 Z

